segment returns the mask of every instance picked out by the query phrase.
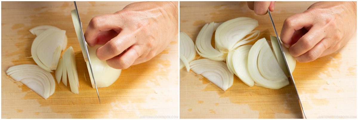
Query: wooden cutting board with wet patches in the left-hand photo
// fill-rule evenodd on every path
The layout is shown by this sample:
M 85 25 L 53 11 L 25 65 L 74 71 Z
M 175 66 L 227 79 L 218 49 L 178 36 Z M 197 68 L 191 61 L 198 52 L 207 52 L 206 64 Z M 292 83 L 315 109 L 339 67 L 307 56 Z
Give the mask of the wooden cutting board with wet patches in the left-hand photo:
M 91 18 L 122 10 L 130 3 L 77 2 L 83 29 Z M 72 1 L 1 2 L 1 118 L 178 118 L 178 37 L 153 59 L 122 70 L 111 86 L 99 88 L 100 104 L 89 81 L 71 10 Z M 6 75 L 10 66 L 35 64 L 28 58 L 36 37 L 29 29 L 40 25 L 66 30 L 67 48 L 72 46 L 76 55 L 79 94 L 60 82 L 45 100 Z

